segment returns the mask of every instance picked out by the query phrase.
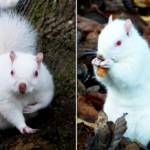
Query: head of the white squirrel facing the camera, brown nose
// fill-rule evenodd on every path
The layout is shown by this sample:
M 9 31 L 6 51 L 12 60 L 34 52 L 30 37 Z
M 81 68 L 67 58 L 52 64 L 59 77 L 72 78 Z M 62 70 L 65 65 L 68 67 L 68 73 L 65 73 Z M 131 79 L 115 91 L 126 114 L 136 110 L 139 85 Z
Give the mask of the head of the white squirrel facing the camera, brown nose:
M 11 85 L 15 93 L 31 93 L 39 82 L 40 66 L 43 54 L 36 56 L 32 54 L 10 52 L 11 60 Z

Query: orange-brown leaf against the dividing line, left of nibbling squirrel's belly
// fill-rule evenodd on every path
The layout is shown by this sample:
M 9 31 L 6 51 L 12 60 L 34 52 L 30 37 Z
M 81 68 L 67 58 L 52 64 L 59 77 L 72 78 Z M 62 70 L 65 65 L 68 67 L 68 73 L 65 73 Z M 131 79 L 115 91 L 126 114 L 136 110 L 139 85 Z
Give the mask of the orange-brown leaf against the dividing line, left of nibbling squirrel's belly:
M 98 111 L 94 108 L 92 103 L 80 95 L 77 99 L 77 113 L 79 118 L 90 123 L 95 123 L 95 120 L 98 118 Z

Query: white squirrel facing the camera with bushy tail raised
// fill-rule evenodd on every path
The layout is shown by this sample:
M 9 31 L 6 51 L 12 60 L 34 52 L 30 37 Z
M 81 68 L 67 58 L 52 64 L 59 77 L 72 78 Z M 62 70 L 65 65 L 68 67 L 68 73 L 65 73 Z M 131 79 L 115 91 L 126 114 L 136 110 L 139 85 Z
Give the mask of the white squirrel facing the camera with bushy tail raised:
M 1 11 L 0 129 L 14 126 L 22 134 L 35 133 L 25 118 L 35 116 L 52 100 L 52 75 L 42 62 L 43 54 L 34 55 L 36 47 L 37 33 L 30 23 L 14 12 Z

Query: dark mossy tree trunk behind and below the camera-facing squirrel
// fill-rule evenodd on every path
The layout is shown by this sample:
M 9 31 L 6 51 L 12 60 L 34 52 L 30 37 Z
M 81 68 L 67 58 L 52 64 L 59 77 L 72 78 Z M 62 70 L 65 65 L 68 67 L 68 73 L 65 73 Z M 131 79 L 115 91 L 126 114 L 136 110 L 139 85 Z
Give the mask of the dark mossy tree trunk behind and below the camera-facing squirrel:
M 55 96 L 47 109 L 27 122 L 39 129 L 36 134 L 1 131 L 0 150 L 74 150 L 75 0 L 21 0 L 17 11 L 39 32 L 39 51 L 53 75 Z

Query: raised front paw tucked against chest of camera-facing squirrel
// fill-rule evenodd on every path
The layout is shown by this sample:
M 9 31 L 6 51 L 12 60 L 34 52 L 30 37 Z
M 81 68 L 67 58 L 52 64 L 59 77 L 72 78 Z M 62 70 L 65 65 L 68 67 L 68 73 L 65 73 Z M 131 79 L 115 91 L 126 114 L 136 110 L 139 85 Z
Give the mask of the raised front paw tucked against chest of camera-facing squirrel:
M 38 106 L 37 103 L 27 105 L 26 107 L 24 107 L 23 113 L 24 114 L 31 114 L 31 113 L 36 112 L 39 110 L 37 106 Z

